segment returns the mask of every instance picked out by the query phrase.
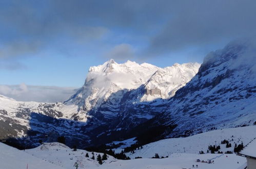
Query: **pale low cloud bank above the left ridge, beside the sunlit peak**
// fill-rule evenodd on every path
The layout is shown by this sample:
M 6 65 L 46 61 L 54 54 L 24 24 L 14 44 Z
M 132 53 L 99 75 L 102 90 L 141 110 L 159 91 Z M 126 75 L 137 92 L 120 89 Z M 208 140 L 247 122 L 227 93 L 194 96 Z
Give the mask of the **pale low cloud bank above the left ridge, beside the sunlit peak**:
M 77 91 L 76 88 L 0 85 L 0 94 L 14 98 L 17 101 L 59 102 L 67 100 Z

